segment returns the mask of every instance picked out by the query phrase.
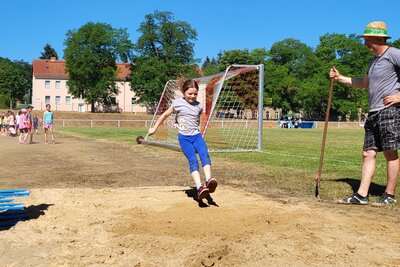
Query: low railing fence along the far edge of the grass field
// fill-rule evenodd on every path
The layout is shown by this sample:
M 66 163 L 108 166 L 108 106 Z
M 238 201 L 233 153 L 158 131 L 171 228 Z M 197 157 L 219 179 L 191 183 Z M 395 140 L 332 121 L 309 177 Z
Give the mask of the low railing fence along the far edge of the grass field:
M 244 127 L 255 127 L 255 120 L 243 120 Z M 151 120 L 82 120 L 82 119 L 55 119 L 57 126 L 61 127 L 132 127 L 132 128 L 149 128 Z M 230 125 L 237 123 L 235 120 L 214 120 L 210 127 L 229 128 Z M 304 123 L 304 124 L 303 124 Z M 306 127 L 302 127 L 306 126 Z M 322 129 L 325 125 L 324 121 L 304 121 L 299 128 L 304 129 Z M 236 127 L 236 126 L 235 126 Z M 363 123 L 359 122 L 329 122 L 329 128 L 332 129 L 361 129 L 364 127 Z M 278 128 L 277 121 L 264 120 L 264 128 Z

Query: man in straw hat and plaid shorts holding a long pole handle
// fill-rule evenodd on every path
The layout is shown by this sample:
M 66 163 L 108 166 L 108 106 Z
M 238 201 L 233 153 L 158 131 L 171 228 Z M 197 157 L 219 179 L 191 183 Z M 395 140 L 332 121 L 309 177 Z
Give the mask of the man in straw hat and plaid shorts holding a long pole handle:
M 396 202 L 395 190 L 400 161 L 400 50 L 389 47 L 386 40 L 386 24 L 382 21 L 369 23 L 360 37 L 374 53 L 368 73 L 363 78 L 345 77 L 333 67 L 329 76 L 335 81 L 356 88 L 368 88 L 370 111 L 365 122 L 365 139 L 361 183 L 358 191 L 339 199 L 339 204 L 368 204 L 368 191 L 376 167 L 377 152 L 382 151 L 387 162 L 387 185 L 384 194 L 372 203 L 380 207 Z

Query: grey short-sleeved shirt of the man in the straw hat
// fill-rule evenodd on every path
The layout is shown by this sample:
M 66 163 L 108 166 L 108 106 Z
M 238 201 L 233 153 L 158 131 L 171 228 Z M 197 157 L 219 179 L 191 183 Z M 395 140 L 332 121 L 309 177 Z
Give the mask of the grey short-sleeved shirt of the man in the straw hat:
M 389 47 L 368 69 L 370 111 L 385 108 L 383 98 L 400 90 L 400 50 Z

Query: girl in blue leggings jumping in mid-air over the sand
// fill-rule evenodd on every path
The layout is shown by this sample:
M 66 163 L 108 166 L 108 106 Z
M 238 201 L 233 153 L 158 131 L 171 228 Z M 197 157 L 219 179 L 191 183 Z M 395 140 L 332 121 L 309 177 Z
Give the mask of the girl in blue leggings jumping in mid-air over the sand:
M 197 188 L 199 200 L 213 193 L 217 188 L 217 180 L 211 177 L 211 160 L 208 154 L 207 145 L 200 133 L 200 115 L 203 112 L 203 105 L 197 101 L 199 85 L 194 80 L 184 82 L 182 88 L 183 97 L 177 98 L 172 102 L 172 106 L 167 109 L 157 120 L 154 127 L 150 128 L 148 135 L 156 133 L 158 127 L 169 115 L 176 112 L 176 123 L 179 129 L 178 140 L 189 161 L 190 174 Z M 199 163 L 196 157 L 199 154 L 206 176 L 205 185 L 201 183 Z

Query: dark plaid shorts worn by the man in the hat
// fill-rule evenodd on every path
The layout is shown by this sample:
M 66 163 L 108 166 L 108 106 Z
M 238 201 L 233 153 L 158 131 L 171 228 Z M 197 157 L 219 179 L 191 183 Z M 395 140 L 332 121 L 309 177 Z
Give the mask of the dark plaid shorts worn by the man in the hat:
M 363 150 L 398 150 L 400 148 L 400 107 L 370 112 L 365 121 Z

